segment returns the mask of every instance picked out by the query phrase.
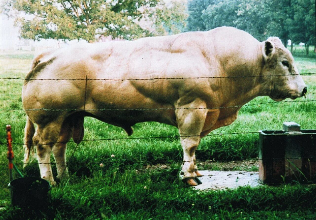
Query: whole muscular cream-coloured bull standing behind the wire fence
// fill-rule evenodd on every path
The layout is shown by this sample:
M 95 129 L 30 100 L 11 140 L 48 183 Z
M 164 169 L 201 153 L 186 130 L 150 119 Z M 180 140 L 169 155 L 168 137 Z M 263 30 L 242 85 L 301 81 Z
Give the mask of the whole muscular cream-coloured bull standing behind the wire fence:
M 57 178 L 67 177 L 66 143 L 71 137 L 82 141 L 85 116 L 119 126 L 128 135 L 135 123 L 156 121 L 179 129 L 184 154 L 180 176 L 197 185 L 200 138 L 234 122 L 240 109 L 225 107 L 258 96 L 295 99 L 306 92 L 293 56 L 279 38 L 259 42 L 231 27 L 42 53 L 33 60 L 22 91 L 24 162 L 34 145 L 41 178 L 54 185 L 51 152 Z

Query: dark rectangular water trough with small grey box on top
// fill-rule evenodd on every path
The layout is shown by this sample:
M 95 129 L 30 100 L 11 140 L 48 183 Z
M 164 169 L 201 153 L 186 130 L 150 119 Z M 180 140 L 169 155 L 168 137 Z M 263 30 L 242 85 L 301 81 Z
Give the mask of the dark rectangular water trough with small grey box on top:
M 316 130 L 294 122 L 259 131 L 259 179 L 265 184 L 316 182 Z

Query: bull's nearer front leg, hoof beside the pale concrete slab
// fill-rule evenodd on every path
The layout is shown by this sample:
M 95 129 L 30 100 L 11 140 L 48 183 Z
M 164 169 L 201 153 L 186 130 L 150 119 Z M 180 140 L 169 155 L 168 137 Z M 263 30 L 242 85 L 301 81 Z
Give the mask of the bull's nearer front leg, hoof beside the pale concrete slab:
M 183 149 L 181 179 L 191 186 L 201 184 L 197 178 L 195 150 L 200 142 L 200 134 L 207 116 L 206 104 L 196 99 L 190 104 L 181 105 L 176 110 L 177 123 Z

